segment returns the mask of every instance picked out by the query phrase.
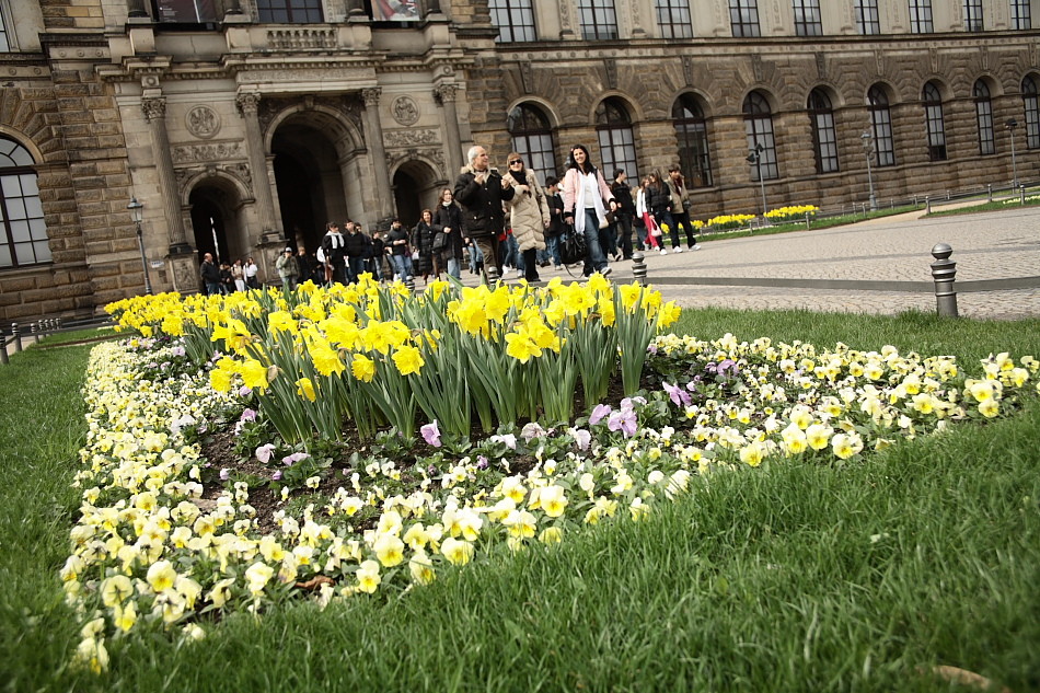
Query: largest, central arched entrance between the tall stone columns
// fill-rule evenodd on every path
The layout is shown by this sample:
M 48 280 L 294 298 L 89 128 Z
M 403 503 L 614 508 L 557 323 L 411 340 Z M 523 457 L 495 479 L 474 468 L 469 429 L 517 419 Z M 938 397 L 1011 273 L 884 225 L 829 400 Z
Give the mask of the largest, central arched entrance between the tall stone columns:
M 274 132 L 275 184 L 285 232 L 293 245 L 317 250 L 325 222 L 368 221 L 360 204 L 363 176 L 347 128 L 323 111 L 298 111 Z M 371 182 L 368 182 L 371 186 Z

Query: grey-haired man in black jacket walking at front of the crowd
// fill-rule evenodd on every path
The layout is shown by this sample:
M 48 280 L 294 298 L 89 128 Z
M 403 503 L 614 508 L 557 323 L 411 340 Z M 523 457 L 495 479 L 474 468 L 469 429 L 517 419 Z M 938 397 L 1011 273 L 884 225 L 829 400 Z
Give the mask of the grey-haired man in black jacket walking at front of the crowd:
M 470 163 L 455 178 L 454 197 L 462 205 L 466 234 L 484 256 L 484 280 L 495 281 L 501 277 L 498 236 L 505 229 L 502 203 L 511 200 L 516 190 L 490 168 L 487 150 L 479 145 L 470 148 L 466 159 Z

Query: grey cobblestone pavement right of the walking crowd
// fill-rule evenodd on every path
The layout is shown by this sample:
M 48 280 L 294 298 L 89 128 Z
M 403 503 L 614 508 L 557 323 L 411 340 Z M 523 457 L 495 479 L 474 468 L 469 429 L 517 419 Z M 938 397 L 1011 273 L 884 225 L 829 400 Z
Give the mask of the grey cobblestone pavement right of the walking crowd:
M 931 285 L 932 247 L 948 243 L 957 280 L 1040 277 L 1040 208 L 933 217 L 922 212 L 871 219 L 844 227 L 791 233 L 707 240 L 701 251 L 646 254 L 647 278 L 668 300 L 684 308 L 808 309 L 811 311 L 894 314 L 935 310 L 929 292 L 859 289 L 775 288 L 769 286 L 672 285 L 668 278 L 839 279 L 924 281 Z M 612 263 L 614 280 L 631 280 L 632 264 Z M 575 270 L 577 274 L 577 270 Z M 542 279 L 566 272 L 541 269 Z M 469 279 L 467 279 L 469 277 Z M 513 273 L 515 277 L 515 273 Z M 655 284 L 655 277 L 661 284 Z M 475 284 L 465 274 L 466 284 Z M 421 285 L 421 282 L 420 282 Z M 956 290 L 956 285 L 955 285 Z M 1040 279 L 1033 288 L 960 291 L 961 315 L 980 319 L 1040 316 Z

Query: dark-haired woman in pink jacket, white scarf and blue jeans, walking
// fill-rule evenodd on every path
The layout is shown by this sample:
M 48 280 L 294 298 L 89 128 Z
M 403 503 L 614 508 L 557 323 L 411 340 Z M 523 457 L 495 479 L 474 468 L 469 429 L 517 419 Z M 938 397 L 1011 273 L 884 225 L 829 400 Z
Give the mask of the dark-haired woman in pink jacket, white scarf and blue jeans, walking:
M 574 223 L 575 231 L 585 235 L 587 246 L 585 276 L 598 272 L 604 277 L 611 273 L 606 255 L 600 243 L 600 229 L 610 224 L 606 221 L 606 207 L 616 209 L 603 174 L 592 165 L 589 150 L 585 145 L 570 148 L 567 174 L 564 176 L 564 219 Z

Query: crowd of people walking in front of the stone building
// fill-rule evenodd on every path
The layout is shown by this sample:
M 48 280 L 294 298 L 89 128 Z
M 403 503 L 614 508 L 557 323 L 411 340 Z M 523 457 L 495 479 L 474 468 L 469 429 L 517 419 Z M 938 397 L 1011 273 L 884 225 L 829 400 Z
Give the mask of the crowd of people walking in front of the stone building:
M 632 189 L 624 170 L 615 170 L 608 184 L 592 164 L 589 150 L 575 145 L 563 181 L 550 176 L 543 188 L 518 152 L 507 157 L 505 174 L 490 166 L 484 147 L 471 147 L 466 159 L 454 187 L 443 188 L 436 208 L 424 209 L 411 231 L 396 218 L 385 234 L 375 231 L 371 235 L 354 221 L 345 221 L 343 230 L 339 222 L 330 221 L 316 256 L 303 247 L 297 252 L 285 249 L 275 263 L 282 284 L 290 290 L 308 279 L 350 284 L 366 272 L 380 281 L 416 276 L 428 281 L 442 273 L 459 278 L 466 254 L 470 270 L 487 281 L 502 278 L 507 266 L 529 282 L 540 281 L 539 267 L 563 267 L 559 245 L 568 232 L 585 240 L 586 256 L 580 263 L 585 276 L 596 272 L 609 275 L 610 259 L 631 259 L 633 245 L 639 251 L 667 253 L 663 229 L 673 252 L 683 250 L 679 227 L 685 232 L 687 247 L 701 249 L 678 166 L 663 180 L 650 173 Z M 228 292 L 222 288 L 223 269 L 213 265 L 209 253 L 200 274 L 208 293 Z M 245 265 L 236 261 L 229 267 L 229 278 L 236 290 L 256 288 L 253 258 Z

